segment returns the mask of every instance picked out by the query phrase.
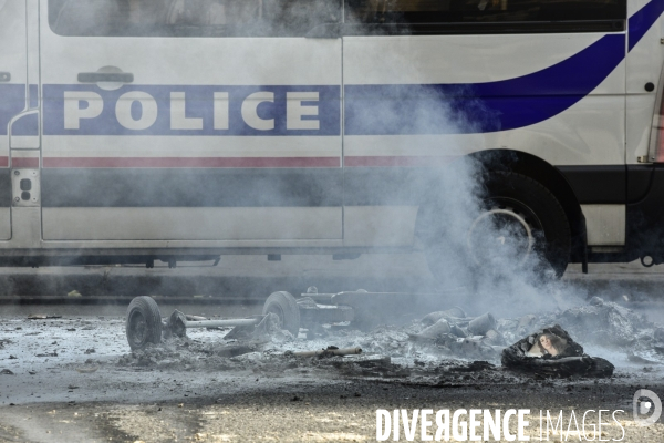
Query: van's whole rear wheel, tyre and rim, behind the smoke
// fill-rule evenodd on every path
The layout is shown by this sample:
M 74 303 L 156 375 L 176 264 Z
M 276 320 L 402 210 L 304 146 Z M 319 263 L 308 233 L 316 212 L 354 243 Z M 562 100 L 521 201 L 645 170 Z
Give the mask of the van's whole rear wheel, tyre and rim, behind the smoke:
M 447 274 L 440 267 L 453 244 L 474 270 L 501 275 L 531 269 L 539 276 L 561 277 L 567 268 L 571 230 L 564 209 L 549 189 L 525 175 L 489 174 L 479 210 L 473 215 L 463 241 L 449 239 L 444 226 L 427 229 L 423 225 L 432 219 L 426 217 L 426 209 L 421 214 L 418 233 L 424 234 L 421 239 L 435 276 Z

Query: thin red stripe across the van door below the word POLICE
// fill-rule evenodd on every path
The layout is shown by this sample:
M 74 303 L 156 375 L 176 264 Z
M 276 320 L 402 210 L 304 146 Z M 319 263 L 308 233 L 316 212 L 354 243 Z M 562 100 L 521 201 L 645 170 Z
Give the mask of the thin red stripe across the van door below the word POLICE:
M 339 157 L 44 157 L 44 167 L 340 167 Z

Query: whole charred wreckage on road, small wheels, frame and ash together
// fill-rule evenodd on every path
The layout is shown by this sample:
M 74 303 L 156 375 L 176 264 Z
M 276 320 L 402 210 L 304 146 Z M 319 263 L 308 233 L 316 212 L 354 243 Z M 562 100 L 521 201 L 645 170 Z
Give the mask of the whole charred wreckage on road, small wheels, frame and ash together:
M 400 312 L 398 307 L 403 311 L 421 298 L 423 295 L 364 290 L 318 293 L 311 287 L 298 298 L 286 291 L 273 292 L 259 316 L 208 319 L 175 310 L 163 319 L 154 299 L 137 297 L 127 309 L 126 334 L 133 357 L 127 357 L 125 363 L 159 365 L 159 356 L 168 352 L 152 350 L 173 340 L 187 340 L 187 330 L 195 328 L 226 332 L 219 340 L 225 346 L 207 349 L 206 356 L 232 360 L 251 354 L 257 361 L 330 358 L 340 364 L 373 362 L 388 365 L 390 370 L 364 372 L 391 377 L 423 368 L 429 373 L 436 368 L 453 368 L 454 371 L 490 370 L 537 379 L 611 377 L 614 365 L 587 354 L 572 336 L 594 344 L 601 344 L 598 339 L 602 337 L 604 344 L 621 347 L 635 362 L 656 364 L 664 357 L 660 351 L 664 350 L 664 329 L 598 297 L 585 306 L 539 317 L 496 319 L 489 312 L 469 317 L 464 309 L 453 307 L 412 319 L 401 327 L 382 322 L 384 319 L 378 312 Z M 320 346 L 330 342 L 336 346 Z M 266 347 L 266 343 L 270 344 Z M 148 354 L 152 357 L 146 363 L 143 357 Z M 446 362 L 445 367 L 442 361 Z

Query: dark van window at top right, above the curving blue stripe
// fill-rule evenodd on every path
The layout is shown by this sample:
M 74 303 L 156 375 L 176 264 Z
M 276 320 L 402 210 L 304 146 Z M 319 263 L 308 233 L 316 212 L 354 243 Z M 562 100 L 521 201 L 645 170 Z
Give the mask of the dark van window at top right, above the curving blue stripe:
M 626 0 L 345 0 L 345 21 L 495 23 L 625 20 Z

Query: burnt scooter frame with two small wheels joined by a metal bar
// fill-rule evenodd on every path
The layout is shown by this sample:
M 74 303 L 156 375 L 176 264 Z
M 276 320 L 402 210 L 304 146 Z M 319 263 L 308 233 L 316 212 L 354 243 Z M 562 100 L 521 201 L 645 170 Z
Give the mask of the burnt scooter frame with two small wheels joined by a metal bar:
M 136 297 L 127 308 L 126 334 L 133 350 L 149 343 L 157 344 L 162 336 L 183 336 L 189 328 L 226 328 L 258 326 L 268 313 L 279 317 L 281 328 L 298 336 L 300 327 L 308 329 L 308 337 L 325 323 L 351 322 L 360 329 L 377 324 L 384 312 L 400 312 L 404 306 L 413 307 L 418 300 L 439 298 L 440 295 L 409 292 L 369 292 L 363 289 L 336 293 L 318 293 L 310 287 L 300 298 L 286 291 L 273 292 L 263 305 L 262 315 L 249 318 L 208 320 L 187 316 L 175 310 L 166 321 L 157 302 L 151 297 Z M 377 309 L 380 307 L 380 309 Z

